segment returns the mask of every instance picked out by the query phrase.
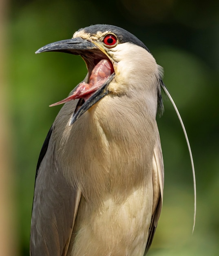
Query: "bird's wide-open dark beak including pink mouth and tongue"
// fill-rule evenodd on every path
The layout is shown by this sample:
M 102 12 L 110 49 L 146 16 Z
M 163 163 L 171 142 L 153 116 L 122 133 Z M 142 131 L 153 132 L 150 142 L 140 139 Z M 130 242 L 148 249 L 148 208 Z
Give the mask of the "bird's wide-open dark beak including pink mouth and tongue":
M 103 49 L 82 38 L 72 38 L 50 43 L 38 49 L 35 53 L 41 52 L 66 52 L 81 55 L 86 62 L 88 81 L 77 85 L 72 94 L 66 99 L 50 105 L 56 106 L 73 99 L 80 99 L 69 122 L 71 126 L 84 112 L 108 94 L 108 85 L 115 76 L 113 64 Z

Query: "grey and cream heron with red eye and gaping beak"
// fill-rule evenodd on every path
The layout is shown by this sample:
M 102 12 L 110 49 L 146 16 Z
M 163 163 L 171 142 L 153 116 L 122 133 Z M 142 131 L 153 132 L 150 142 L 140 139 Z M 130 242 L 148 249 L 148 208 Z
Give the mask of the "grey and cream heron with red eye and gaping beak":
M 146 255 L 163 202 L 162 68 L 114 25 L 79 29 L 42 52 L 80 55 L 88 73 L 51 105 L 64 103 L 37 164 L 30 255 Z

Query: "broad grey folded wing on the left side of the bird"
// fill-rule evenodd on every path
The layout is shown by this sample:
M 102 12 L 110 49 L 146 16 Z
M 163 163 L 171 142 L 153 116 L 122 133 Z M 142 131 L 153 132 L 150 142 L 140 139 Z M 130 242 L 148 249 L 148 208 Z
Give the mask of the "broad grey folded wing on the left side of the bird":
M 31 256 L 67 254 L 81 192 L 70 186 L 55 157 L 53 128 L 40 152 L 31 219 Z

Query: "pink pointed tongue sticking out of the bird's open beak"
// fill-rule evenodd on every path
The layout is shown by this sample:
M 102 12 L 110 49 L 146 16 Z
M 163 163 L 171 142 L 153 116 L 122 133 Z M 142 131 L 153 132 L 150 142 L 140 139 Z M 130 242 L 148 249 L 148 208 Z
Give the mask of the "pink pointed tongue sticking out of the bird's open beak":
M 92 70 L 89 83 L 80 83 L 77 90 L 71 96 L 50 105 L 50 107 L 66 103 L 67 101 L 71 101 L 73 99 L 83 98 L 84 101 L 86 101 L 98 88 L 101 87 L 101 85 L 104 84 L 108 77 L 113 74 L 113 72 L 114 69 L 112 63 L 106 59 L 101 60 Z

